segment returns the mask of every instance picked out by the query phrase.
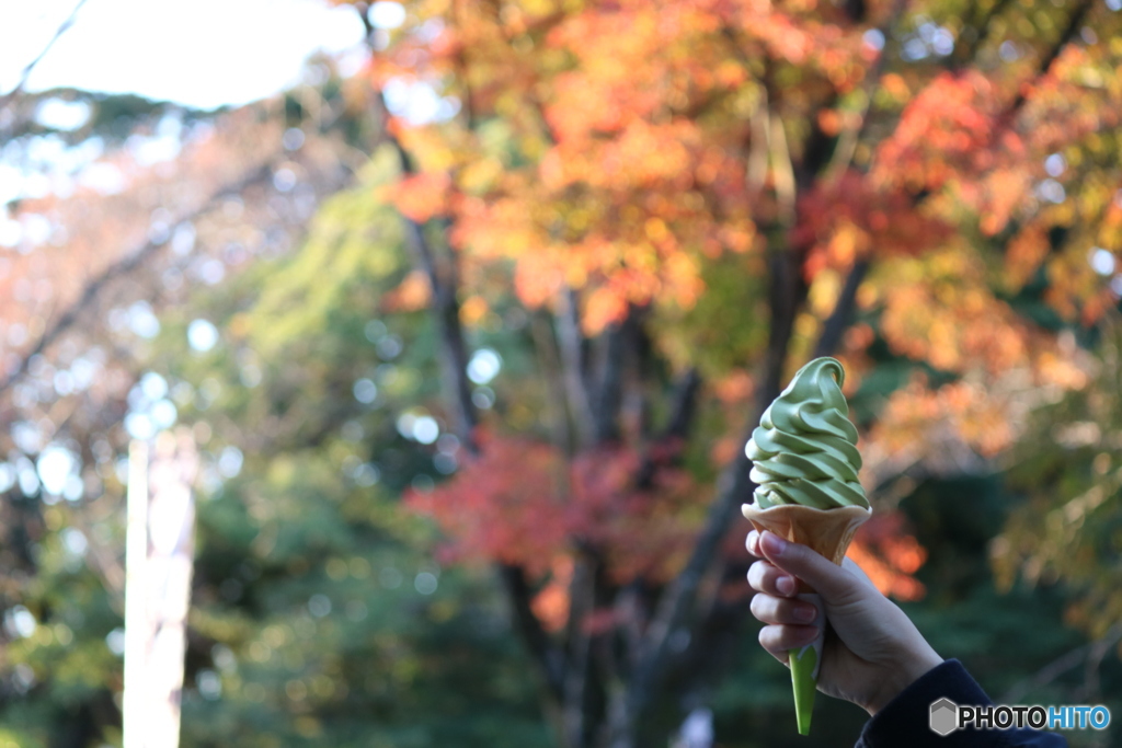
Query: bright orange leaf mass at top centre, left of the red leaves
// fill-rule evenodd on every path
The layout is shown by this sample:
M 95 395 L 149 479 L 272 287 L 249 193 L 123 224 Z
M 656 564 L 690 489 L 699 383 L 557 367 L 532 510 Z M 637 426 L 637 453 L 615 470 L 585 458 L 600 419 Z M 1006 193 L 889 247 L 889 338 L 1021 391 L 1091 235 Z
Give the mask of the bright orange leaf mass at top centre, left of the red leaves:
M 472 89 L 472 105 L 504 118 L 527 149 L 526 165 L 500 164 L 460 135 L 441 146 L 425 135 L 410 144 L 423 144 L 429 163 L 443 159 L 452 175 L 453 243 L 476 261 L 513 260 L 516 289 L 531 306 L 564 286 L 587 288 L 590 333 L 631 304 L 689 308 L 703 289 L 702 260 L 752 247 L 762 205 L 745 182 L 749 123 L 718 103 L 756 90 L 745 45 L 807 65 L 842 90 L 861 81 L 870 61 L 859 29 L 809 7 L 624 2 L 552 17 L 522 7 L 498 19 L 472 12 L 461 9 L 457 27 L 427 46 L 395 46 L 375 80 L 439 77 L 470 56 L 473 79 L 487 81 Z M 523 34 L 536 41 L 512 44 Z M 543 122 L 545 137 L 536 129 Z M 444 153 L 434 158 L 434 149 Z M 436 185 L 408 186 L 416 195 L 401 203 L 406 212 L 440 210 L 430 200 Z

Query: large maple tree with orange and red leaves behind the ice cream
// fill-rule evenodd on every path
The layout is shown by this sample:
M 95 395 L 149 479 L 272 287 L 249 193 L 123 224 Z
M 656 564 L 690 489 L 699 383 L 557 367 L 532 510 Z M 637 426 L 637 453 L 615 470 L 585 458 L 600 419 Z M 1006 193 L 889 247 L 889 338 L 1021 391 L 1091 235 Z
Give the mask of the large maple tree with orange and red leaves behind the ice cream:
M 1056 332 L 1118 302 L 1112 7 L 453 0 L 393 29 L 356 7 L 401 297 L 434 314 L 472 455 L 411 501 L 497 565 L 563 745 L 654 745 L 719 671 L 747 602 L 745 428 L 809 355 L 847 364 L 874 500 L 1003 454 L 1040 393 L 1082 385 Z M 500 422 L 465 340 L 511 287 L 548 394 Z M 922 562 L 894 544 L 886 587 Z

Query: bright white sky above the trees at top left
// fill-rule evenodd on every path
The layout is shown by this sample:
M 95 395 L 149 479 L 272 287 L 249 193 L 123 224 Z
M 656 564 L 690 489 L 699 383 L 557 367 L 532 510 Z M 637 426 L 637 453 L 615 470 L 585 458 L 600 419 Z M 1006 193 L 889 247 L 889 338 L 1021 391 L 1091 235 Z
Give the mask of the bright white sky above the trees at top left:
M 0 93 L 76 3 L 0 0 Z M 28 89 L 136 93 L 204 109 L 242 104 L 296 83 L 316 50 L 343 52 L 361 38 L 355 10 L 324 0 L 88 0 Z

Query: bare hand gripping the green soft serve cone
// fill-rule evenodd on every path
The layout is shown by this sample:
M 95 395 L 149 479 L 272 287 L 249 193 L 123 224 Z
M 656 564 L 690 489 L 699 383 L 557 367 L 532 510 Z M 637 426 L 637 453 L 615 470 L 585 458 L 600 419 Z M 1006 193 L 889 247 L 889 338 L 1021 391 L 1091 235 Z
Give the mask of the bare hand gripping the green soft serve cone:
M 904 611 L 849 558 L 838 566 L 770 532 L 748 533 L 747 548 L 761 558 L 748 570 L 748 584 L 757 592 L 752 615 L 767 624 L 760 629 L 760 644 L 781 663 L 788 662 L 788 649 L 819 635 L 808 625 L 816 615 L 813 606 L 794 599 L 795 578 L 821 595 L 830 622 L 818 674 L 822 693 L 875 714 L 942 662 Z

